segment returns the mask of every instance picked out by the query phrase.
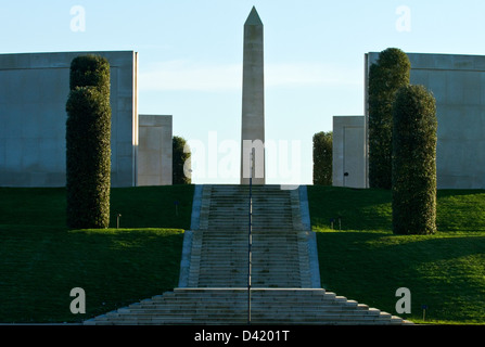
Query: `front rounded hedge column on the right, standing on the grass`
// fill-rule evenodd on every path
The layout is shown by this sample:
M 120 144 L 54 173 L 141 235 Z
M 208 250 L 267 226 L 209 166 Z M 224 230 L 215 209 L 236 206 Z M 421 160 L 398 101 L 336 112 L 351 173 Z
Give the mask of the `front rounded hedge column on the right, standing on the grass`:
M 393 231 L 436 231 L 436 104 L 422 86 L 401 88 L 393 120 Z

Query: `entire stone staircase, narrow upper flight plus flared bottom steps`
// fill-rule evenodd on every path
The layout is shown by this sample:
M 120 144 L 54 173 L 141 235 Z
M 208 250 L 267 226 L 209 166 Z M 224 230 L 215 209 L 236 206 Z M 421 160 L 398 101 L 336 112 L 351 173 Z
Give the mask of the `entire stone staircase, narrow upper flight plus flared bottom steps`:
M 253 187 L 250 310 L 248 190 L 197 185 L 179 287 L 85 324 L 410 323 L 320 287 L 305 187 Z

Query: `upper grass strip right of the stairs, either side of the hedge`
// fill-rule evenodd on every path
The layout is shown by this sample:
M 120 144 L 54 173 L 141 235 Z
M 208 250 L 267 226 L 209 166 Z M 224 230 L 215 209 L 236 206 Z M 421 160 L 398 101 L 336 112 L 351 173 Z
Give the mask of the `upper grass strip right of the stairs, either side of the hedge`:
M 485 231 L 485 190 L 438 190 L 439 232 Z M 308 185 L 315 230 L 392 230 L 392 192 L 378 189 Z

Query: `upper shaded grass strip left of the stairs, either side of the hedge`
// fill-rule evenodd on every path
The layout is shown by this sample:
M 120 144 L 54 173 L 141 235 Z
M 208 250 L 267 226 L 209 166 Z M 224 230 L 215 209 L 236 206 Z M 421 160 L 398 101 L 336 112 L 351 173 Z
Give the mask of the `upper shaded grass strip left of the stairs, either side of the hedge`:
M 114 188 L 110 227 L 190 229 L 194 185 Z M 65 188 L 0 188 L 0 224 L 66 226 Z

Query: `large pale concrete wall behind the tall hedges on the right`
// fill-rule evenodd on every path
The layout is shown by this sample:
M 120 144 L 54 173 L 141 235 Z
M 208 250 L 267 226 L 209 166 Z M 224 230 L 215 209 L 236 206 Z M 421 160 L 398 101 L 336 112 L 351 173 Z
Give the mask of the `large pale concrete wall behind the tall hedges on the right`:
M 411 83 L 436 99 L 437 188 L 485 189 L 485 56 L 407 54 Z M 366 95 L 369 67 L 378 57 L 379 52 L 366 54 Z M 366 128 L 367 120 L 366 103 Z

